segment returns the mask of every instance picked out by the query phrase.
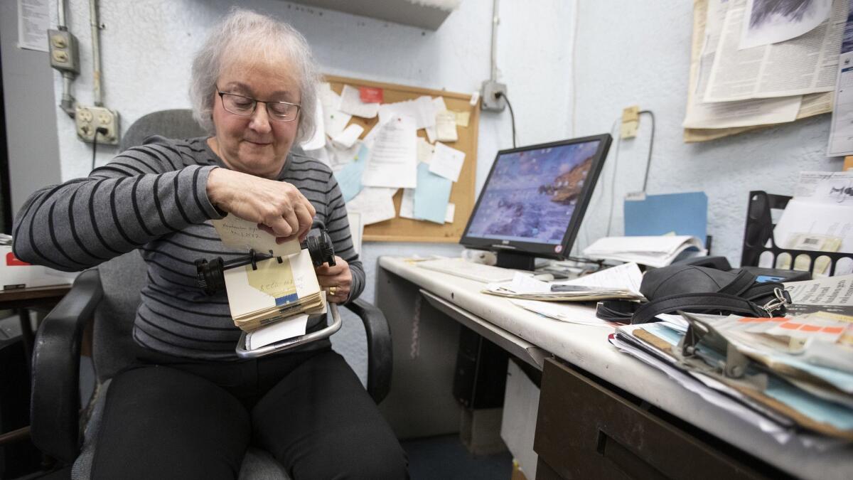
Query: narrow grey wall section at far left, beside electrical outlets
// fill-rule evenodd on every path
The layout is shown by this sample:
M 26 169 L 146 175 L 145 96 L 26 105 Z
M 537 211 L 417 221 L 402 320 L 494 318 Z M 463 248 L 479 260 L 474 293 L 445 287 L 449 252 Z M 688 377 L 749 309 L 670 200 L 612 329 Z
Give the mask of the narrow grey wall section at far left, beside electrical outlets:
M 12 212 L 33 190 L 60 181 L 53 70 L 47 52 L 18 48 L 18 3 L 0 2 L 3 97 Z

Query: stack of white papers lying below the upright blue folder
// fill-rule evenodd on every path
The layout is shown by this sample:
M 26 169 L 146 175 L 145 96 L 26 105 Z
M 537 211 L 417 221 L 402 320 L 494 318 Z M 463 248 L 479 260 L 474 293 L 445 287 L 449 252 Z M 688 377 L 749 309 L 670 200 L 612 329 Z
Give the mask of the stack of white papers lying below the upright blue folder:
M 702 248 L 699 238 L 688 235 L 604 237 L 583 249 L 583 255 L 592 259 L 634 261 L 654 267 L 707 254 L 708 250 Z

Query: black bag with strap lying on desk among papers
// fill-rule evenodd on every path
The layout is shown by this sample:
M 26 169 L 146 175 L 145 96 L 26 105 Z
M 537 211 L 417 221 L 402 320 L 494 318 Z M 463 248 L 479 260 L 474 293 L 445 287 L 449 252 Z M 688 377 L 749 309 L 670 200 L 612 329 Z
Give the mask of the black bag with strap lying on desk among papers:
M 661 313 L 739 313 L 746 317 L 772 317 L 785 313 L 791 296 L 778 282 L 756 282 L 745 270 L 724 272 L 715 268 L 673 265 L 646 273 L 640 293 L 647 303 L 602 301 L 595 315 L 600 319 L 645 324 Z

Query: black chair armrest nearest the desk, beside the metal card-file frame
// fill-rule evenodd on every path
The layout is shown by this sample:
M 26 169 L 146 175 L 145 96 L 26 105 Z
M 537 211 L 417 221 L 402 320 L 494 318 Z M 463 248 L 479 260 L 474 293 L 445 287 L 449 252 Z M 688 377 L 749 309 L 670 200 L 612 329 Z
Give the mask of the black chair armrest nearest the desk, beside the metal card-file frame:
M 391 372 L 394 354 L 391 345 L 391 329 L 385 313 L 368 301 L 357 299 L 345 304 L 364 322 L 368 340 L 368 394 L 377 405 L 391 389 Z

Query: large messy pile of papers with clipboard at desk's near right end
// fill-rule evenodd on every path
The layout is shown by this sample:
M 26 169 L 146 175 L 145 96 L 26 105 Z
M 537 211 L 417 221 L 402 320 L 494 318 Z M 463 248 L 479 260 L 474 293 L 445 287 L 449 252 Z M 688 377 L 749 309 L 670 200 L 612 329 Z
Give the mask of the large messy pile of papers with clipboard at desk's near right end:
M 795 304 L 814 301 L 827 287 L 849 300 L 851 280 L 848 275 L 832 278 L 833 285 L 821 280 L 786 288 Z M 821 302 L 829 306 L 833 295 L 823 291 Z M 853 316 L 811 307 L 813 313 L 774 319 L 661 315 L 659 323 L 619 326 L 611 343 L 780 443 L 798 430 L 816 434 L 809 442 L 818 448 L 838 439 L 853 442 Z

